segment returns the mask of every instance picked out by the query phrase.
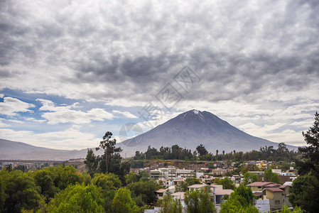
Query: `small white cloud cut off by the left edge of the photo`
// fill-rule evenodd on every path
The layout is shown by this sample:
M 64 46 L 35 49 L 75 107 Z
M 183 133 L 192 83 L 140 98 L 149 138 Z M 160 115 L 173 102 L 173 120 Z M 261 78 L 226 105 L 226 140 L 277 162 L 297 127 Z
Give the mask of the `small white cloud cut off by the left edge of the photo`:
M 30 108 L 36 107 L 33 104 L 22 102 L 13 97 L 4 97 L 4 102 L 0 102 L 0 114 L 6 116 L 17 116 L 18 112 L 31 112 Z

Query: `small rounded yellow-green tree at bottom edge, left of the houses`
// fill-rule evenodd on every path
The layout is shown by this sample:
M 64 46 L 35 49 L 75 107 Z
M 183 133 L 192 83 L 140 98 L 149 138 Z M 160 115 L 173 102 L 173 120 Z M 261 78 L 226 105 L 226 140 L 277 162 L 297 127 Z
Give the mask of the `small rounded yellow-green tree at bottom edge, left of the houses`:
M 139 212 L 139 207 L 136 203 L 131 200 L 131 193 L 129 190 L 124 188 L 119 188 L 112 201 L 112 212 L 114 213 L 131 213 Z

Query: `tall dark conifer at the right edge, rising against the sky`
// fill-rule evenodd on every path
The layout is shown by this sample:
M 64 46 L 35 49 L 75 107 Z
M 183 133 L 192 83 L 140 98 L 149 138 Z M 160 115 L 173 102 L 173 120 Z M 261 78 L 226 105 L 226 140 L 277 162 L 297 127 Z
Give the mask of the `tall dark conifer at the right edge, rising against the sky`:
M 310 129 L 304 133 L 308 146 L 299 147 L 302 153 L 302 160 L 296 160 L 296 165 L 300 168 L 299 175 L 306 175 L 312 172 L 319 179 L 319 114 L 315 112 L 315 122 Z

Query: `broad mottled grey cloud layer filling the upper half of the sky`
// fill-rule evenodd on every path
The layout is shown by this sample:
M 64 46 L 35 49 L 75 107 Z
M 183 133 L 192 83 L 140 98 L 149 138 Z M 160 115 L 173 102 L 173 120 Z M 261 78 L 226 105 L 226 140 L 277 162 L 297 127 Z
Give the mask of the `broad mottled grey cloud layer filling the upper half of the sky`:
M 1 1 L 1 78 L 69 98 L 148 101 L 189 65 L 185 99 L 262 99 L 318 85 L 315 1 Z M 48 79 L 45 79 L 48 78 Z M 92 89 L 83 87 L 91 84 Z

